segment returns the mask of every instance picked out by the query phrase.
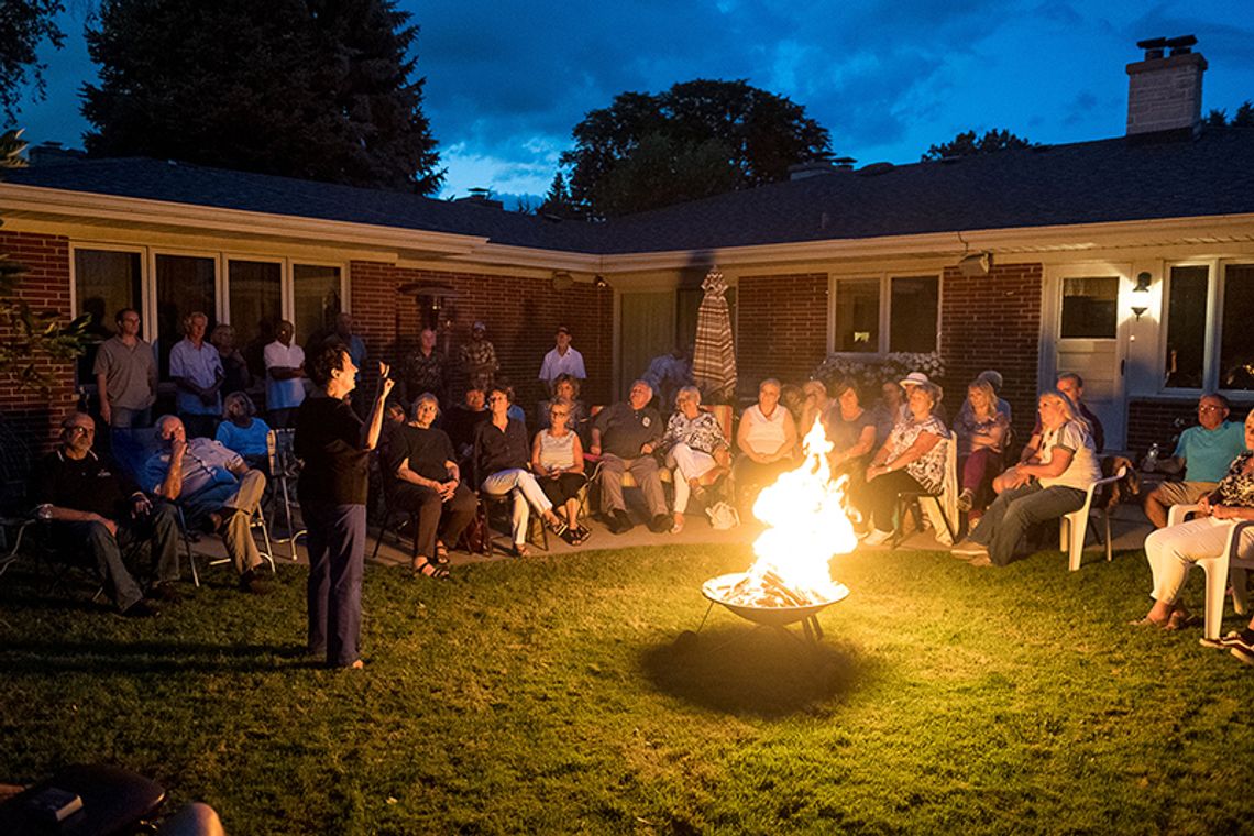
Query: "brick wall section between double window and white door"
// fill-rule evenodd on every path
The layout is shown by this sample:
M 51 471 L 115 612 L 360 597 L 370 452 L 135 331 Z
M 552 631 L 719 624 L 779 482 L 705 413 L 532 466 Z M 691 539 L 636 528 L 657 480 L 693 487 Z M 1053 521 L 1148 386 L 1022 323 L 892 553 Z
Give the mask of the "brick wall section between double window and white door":
M 1011 404 L 1014 432 L 1027 440 L 1036 419 L 1037 356 L 1041 335 L 1041 264 L 997 264 L 988 276 L 963 276 L 947 267 L 942 277 L 940 356 L 946 361 L 944 402 L 957 415 L 967 384 L 986 368 L 1002 374 L 1001 396 Z

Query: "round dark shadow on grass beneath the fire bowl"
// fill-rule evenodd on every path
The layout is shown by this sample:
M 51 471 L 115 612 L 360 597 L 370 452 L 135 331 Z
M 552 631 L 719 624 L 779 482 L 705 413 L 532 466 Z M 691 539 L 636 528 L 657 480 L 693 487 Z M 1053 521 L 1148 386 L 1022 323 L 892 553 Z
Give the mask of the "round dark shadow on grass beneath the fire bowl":
M 693 704 L 764 718 L 816 712 L 864 684 L 875 663 L 854 648 L 818 644 L 796 628 L 722 627 L 646 648 L 642 667 L 665 693 Z

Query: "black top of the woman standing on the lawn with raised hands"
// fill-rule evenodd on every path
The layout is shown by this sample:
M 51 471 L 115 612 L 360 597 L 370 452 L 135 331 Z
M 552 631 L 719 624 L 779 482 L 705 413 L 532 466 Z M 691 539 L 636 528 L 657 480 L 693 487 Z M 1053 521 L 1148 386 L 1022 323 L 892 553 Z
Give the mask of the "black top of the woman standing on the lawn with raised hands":
M 361 419 L 347 401 L 315 392 L 296 414 L 296 456 L 305 462 L 301 503 L 365 505 L 370 451 L 361 449 Z

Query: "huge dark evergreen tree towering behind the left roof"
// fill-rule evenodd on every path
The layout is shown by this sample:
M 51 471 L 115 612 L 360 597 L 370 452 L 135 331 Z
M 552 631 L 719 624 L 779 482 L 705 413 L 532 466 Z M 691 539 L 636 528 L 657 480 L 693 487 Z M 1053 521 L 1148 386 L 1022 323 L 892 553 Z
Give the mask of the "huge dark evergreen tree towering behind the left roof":
M 434 192 L 409 19 L 395 0 L 104 0 L 87 149 Z

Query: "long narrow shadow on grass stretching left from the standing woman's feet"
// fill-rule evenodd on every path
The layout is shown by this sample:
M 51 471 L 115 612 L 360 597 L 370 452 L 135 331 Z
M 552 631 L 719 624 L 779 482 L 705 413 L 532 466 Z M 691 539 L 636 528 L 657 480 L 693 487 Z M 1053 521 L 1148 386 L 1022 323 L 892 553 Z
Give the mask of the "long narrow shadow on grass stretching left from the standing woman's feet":
M 79 672 L 102 677 L 137 673 L 273 671 L 308 667 L 305 648 L 282 644 L 208 644 L 196 642 L 19 640 L 0 648 L 8 673 Z

